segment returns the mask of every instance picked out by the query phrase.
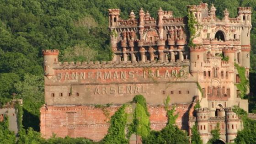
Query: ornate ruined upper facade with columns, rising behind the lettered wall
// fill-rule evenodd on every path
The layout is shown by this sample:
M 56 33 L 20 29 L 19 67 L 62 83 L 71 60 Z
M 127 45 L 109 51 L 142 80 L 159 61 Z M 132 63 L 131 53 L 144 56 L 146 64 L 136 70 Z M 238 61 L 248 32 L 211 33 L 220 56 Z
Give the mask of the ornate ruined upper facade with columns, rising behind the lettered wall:
M 128 20 L 119 15 L 119 9 L 109 9 L 113 61 L 175 62 L 188 59 L 185 18 L 174 18 L 172 11 L 161 8 L 157 20 L 142 9 L 138 19 L 133 11 Z

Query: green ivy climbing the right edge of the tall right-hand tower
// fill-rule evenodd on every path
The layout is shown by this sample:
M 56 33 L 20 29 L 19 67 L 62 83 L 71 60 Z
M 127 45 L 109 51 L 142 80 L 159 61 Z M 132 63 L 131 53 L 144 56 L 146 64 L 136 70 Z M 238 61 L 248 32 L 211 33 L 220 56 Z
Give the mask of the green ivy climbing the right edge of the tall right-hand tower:
M 235 64 L 235 68 L 238 71 L 239 77 L 240 77 L 240 83 L 236 84 L 237 89 L 240 91 L 240 97 L 243 99 L 245 98 L 247 88 L 249 86 L 249 80 L 245 77 L 245 68 Z

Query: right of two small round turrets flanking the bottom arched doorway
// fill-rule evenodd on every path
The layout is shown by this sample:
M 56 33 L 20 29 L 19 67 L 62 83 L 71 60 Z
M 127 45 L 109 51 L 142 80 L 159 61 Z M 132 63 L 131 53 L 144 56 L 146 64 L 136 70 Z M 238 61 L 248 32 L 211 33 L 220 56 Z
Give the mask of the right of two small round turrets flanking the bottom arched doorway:
M 240 126 L 240 120 L 231 107 L 225 109 L 226 116 L 226 142 L 232 142 L 235 139 L 237 130 Z

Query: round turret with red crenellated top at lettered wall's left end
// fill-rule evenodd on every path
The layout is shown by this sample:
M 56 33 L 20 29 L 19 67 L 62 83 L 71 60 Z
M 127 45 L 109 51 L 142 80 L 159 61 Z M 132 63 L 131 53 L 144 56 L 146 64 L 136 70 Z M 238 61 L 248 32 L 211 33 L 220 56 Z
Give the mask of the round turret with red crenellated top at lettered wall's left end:
M 53 64 L 58 62 L 58 49 L 43 50 L 44 75 L 48 78 L 54 75 Z

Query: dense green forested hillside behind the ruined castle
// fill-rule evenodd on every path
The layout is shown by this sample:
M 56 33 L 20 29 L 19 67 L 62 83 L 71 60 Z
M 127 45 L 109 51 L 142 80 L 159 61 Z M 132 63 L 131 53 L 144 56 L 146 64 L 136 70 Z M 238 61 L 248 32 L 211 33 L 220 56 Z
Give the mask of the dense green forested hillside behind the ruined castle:
M 59 49 L 60 61 L 111 59 L 108 9 L 121 9 L 128 18 L 142 7 L 156 18 L 157 10 L 186 16 L 187 5 L 202 0 L 0 0 L 0 103 L 23 99 L 23 125 L 39 131 L 39 108 L 44 104 L 42 49 Z M 251 108 L 256 101 L 256 0 L 203 0 L 230 17 L 237 7 L 251 6 Z M 138 15 L 137 15 L 138 16 Z

